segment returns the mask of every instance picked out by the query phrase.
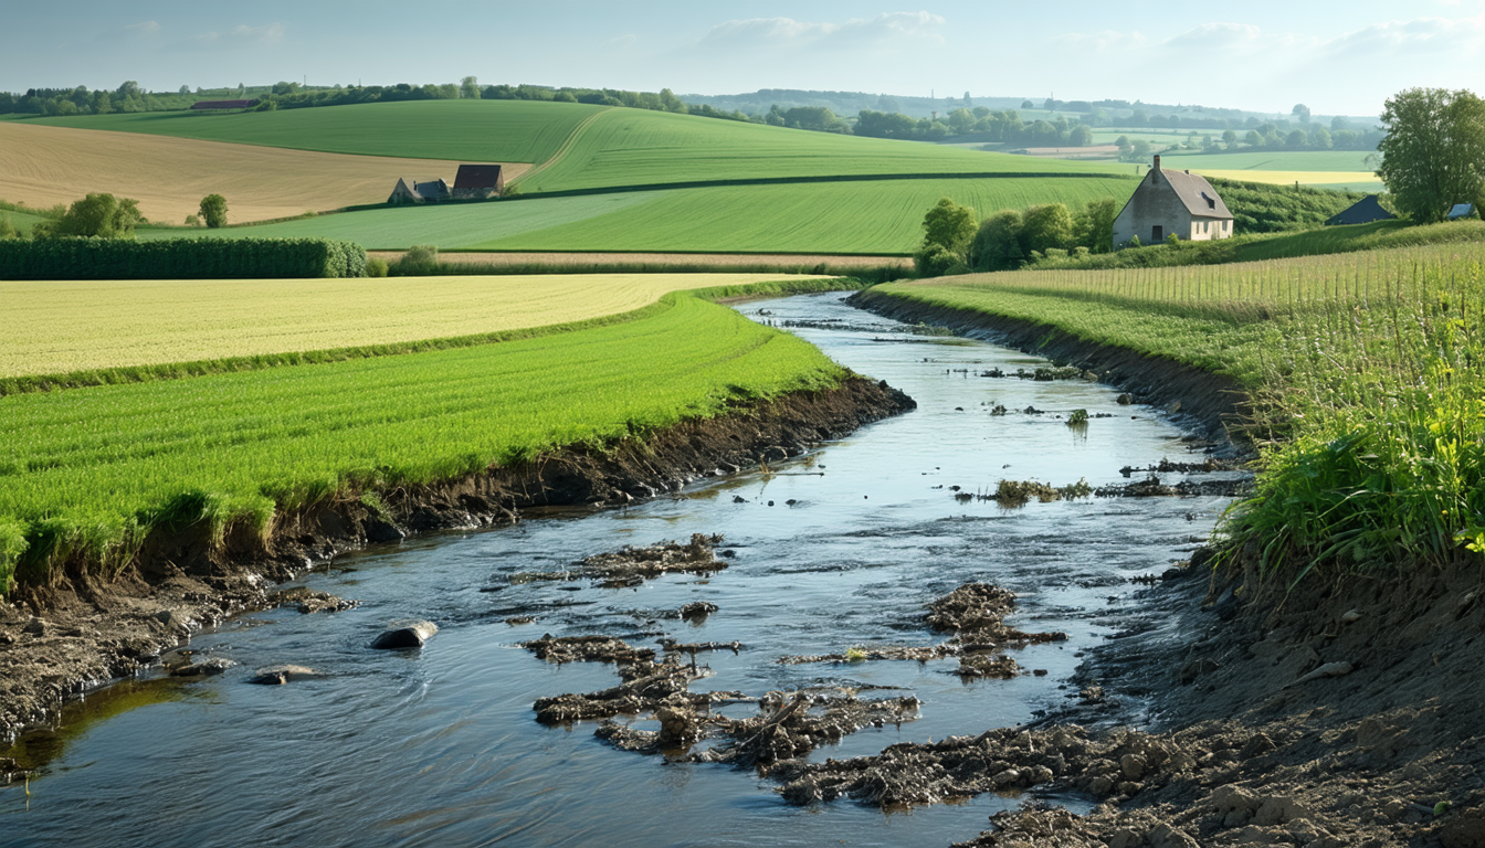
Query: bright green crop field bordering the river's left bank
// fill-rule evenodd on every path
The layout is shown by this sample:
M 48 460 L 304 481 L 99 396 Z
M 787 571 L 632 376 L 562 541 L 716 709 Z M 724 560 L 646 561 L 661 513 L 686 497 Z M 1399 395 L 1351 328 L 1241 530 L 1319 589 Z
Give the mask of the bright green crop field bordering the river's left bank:
M 276 511 L 601 444 L 835 385 L 811 345 L 691 294 L 535 339 L 0 397 L 0 588 L 110 569 L 150 527 Z

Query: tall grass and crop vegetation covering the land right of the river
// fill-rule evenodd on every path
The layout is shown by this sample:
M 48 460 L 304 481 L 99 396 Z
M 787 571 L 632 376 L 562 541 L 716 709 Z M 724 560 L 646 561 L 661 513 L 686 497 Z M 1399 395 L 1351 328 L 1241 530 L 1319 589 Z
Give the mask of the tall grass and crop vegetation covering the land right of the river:
M 878 287 L 1250 388 L 1261 474 L 1224 526 L 1265 579 L 1485 552 L 1485 245 Z

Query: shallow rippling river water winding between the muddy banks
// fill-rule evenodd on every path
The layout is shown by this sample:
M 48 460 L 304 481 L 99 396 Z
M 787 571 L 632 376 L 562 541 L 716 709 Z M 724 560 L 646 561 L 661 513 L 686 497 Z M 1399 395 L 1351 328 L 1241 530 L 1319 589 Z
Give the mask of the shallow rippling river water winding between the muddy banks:
M 993 490 L 1001 478 L 1054 486 L 1118 483 L 1124 465 L 1182 459 L 1181 431 L 1143 407 L 1120 407 L 1081 382 L 985 379 L 1042 361 L 962 339 L 885 333 L 892 322 L 808 296 L 741 306 L 759 319 L 829 321 L 872 330 L 799 330 L 836 361 L 918 399 L 909 414 L 863 428 L 777 474 L 696 484 L 642 506 L 446 533 L 337 557 L 301 584 L 362 606 L 336 615 L 272 610 L 200 634 L 192 648 L 239 665 L 221 677 L 148 686 L 97 714 L 73 710 L 58 735 L 30 741 L 49 759 L 24 787 L 0 787 L 0 845 L 947 845 L 1025 798 L 884 814 L 851 802 L 784 805 L 774 784 L 720 765 L 676 765 L 615 750 L 595 723 L 544 728 L 532 702 L 616 683 L 612 667 L 548 665 L 517 646 L 544 633 L 601 633 L 636 645 L 661 636 L 731 642 L 704 653 L 716 671 L 693 691 L 841 685 L 900 686 L 921 719 L 863 729 L 817 759 L 876 753 L 1026 722 L 1065 702 L 1078 653 L 1139 616 L 1129 578 L 1158 573 L 1203 539 L 1224 499 L 1081 499 L 1002 509 L 961 503 L 950 486 Z M 968 373 L 962 373 L 968 370 Z M 1002 404 L 1004 417 L 989 410 Z M 1016 413 L 1034 405 L 1047 414 Z M 1074 408 L 1086 432 L 1059 420 Z M 1133 417 L 1132 417 L 1133 416 Z M 1173 477 L 1172 477 L 1173 478 Z M 742 498 L 742 502 L 734 502 Z M 769 502 L 774 502 L 769 506 Z M 787 505 L 794 500 L 794 505 Z M 604 590 L 588 582 L 508 585 L 621 545 L 723 533 L 732 566 Z M 924 604 L 968 581 L 1020 593 L 1010 619 L 1063 630 L 1026 648 L 1014 680 L 961 682 L 955 659 L 780 665 L 778 656 L 855 645 L 931 645 Z M 499 591 L 481 591 L 496 587 Z M 572 591 L 575 590 L 575 591 Z M 693 600 L 704 624 L 658 618 Z M 530 613 L 530 625 L 505 618 Z M 443 628 L 422 650 L 367 643 L 398 618 Z M 248 686 L 278 662 L 327 673 Z M 97 697 L 95 701 L 99 701 Z M 99 702 L 104 702 L 102 699 Z M 123 704 L 120 707 L 120 704 Z M 732 714 L 748 711 L 732 707 Z M 740 713 L 741 711 L 741 713 Z M 1056 800 L 1056 799 L 1054 799 Z M 1066 799 L 1077 805 L 1077 800 Z

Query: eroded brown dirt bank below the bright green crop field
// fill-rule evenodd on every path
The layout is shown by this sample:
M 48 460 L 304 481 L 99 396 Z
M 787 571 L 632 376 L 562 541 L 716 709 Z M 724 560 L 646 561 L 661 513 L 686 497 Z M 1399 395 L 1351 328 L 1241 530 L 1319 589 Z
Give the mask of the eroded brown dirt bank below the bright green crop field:
M 275 603 L 272 584 L 337 552 L 410 533 L 509 524 L 527 508 L 643 500 L 799 456 L 913 407 L 887 383 L 851 377 L 827 392 L 683 422 L 606 451 L 566 449 L 517 468 L 380 492 L 380 509 L 356 496 L 316 503 L 281 515 L 266 536 L 235 527 L 214 542 L 202 527 L 157 530 L 116 581 L 74 567 L 56 588 L 0 601 L 0 740 L 45 722 L 64 699 L 154 662 L 202 627 Z

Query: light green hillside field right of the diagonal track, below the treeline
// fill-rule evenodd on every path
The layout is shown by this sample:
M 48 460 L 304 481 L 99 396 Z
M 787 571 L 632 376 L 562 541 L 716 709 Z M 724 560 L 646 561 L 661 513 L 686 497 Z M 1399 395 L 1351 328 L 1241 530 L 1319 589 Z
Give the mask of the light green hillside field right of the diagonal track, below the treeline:
M 843 174 L 1108 174 L 1108 165 L 615 108 L 521 180 L 526 192 Z M 1123 169 L 1115 169 L 1123 172 Z

